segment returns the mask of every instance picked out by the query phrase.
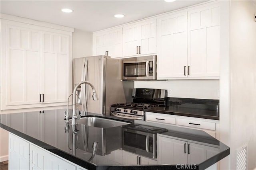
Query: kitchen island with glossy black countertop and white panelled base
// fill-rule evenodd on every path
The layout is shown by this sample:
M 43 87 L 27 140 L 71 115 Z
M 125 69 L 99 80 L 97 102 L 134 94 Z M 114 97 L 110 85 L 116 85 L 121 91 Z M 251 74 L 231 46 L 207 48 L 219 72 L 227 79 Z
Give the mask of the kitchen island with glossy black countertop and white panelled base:
M 82 114 L 119 119 L 95 113 Z M 64 109 L 2 114 L 0 125 L 10 132 L 10 166 L 28 169 L 56 169 L 54 166 L 62 169 L 64 166 L 63 169 L 74 170 L 206 169 L 230 154 L 228 146 L 204 131 L 119 119 L 168 129 L 157 135 L 157 158 L 150 159 L 122 150 L 122 126 L 100 128 L 78 121 L 78 125 L 72 127 L 65 123 L 63 115 Z M 98 149 L 90 162 L 94 141 L 98 142 Z M 187 146 L 190 147 L 185 148 Z M 19 158 L 20 162 L 14 158 Z M 58 163 L 55 165 L 54 161 Z

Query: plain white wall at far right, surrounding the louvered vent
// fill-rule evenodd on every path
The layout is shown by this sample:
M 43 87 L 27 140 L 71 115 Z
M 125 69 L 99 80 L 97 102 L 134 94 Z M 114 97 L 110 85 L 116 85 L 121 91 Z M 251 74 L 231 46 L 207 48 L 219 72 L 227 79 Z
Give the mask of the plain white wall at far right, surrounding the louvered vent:
M 250 170 L 256 166 L 255 4 L 231 1 L 230 7 L 230 169 L 236 149 L 247 144 Z

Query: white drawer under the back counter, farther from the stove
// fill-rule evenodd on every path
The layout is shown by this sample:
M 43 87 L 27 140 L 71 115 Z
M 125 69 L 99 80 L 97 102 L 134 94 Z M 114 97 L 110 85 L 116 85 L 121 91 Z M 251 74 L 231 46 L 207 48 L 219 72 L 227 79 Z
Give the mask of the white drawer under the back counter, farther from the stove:
M 197 120 L 177 118 L 177 125 L 196 127 L 200 129 L 209 129 L 209 130 L 215 131 L 215 123 L 207 122 L 207 121 L 197 121 Z

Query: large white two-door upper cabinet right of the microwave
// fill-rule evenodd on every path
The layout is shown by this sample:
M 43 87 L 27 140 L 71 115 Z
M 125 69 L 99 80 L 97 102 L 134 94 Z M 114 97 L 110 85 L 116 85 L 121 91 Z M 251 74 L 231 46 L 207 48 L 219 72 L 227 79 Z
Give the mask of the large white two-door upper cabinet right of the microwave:
M 157 79 L 218 78 L 219 3 L 158 18 Z

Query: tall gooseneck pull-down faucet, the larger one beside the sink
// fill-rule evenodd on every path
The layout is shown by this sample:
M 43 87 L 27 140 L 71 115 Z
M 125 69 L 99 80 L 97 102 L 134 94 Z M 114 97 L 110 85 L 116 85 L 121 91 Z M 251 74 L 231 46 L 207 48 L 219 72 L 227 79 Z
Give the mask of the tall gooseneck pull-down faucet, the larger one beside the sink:
M 88 84 L 88 85 L 90 85 L 91 88 L 92 88 L 92 99 L 94 101 L 98 100 L 94 86 L 92 85 L 92 83 L 90 83 L 88 81 L 81 81 L 81 82 L 79 82 L 76 85 L 76 87 L 74 88 L 73 94 L 76 94 L 76 90 L 77 90 L 77 88 L 81 84 Z M 71 123 L 71 125 L 76 125 L 77 124 L 77 119 L 80 119 L 80 118 L 81 118 L 81 116 L 79 115 L 79 113 L 76 113 L 76 95 L 73 95 L 73 114 L 72 114 L 72 123 Z

